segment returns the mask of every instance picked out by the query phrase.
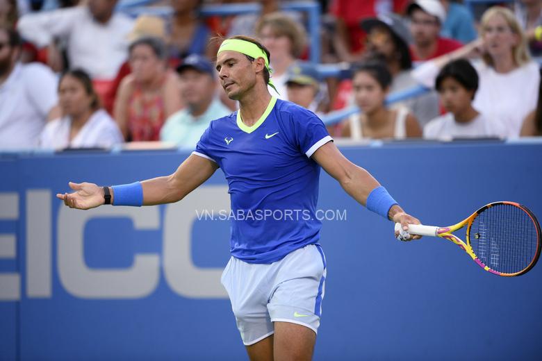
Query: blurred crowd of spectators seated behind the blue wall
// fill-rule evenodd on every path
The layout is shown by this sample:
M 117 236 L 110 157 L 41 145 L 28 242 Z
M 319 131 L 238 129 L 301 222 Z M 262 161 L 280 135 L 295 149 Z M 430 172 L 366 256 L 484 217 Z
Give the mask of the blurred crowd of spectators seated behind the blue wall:
M 135 15 L 117 0 L 0 0 L 0 151 L 192 149 L 236 111 L 214 65 L 233 35 L 262 42 L 271 94 L 336 119 L 334 137 L 542 135 L 542 0 L 320 1 L 320 58 L 343 69 L 332 74 L 309 61 L 307 16 L 288 1 L 224 16 L 202 8 L 248 1 L 164 1 Z

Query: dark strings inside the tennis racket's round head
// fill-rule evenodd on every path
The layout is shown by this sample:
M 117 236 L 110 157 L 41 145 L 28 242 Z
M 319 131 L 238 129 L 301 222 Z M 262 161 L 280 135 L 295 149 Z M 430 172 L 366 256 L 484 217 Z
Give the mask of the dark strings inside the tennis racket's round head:
M 539 248 L 536 224 L 522 208 L 498 204 L 477 215 L 469 240 L 484 265 L 504 274 L 515 274 L 531 264 Z

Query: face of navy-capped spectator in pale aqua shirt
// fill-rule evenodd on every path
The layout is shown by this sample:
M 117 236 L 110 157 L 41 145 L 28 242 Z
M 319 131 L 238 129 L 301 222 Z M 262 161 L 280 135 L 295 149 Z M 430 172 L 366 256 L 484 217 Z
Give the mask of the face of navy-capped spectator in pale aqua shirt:
M 179 78 L 181 96 L 188 106 L 208 103 L 213 99 L 215 80 L 209 74 L 195 69 L 184 69 Z

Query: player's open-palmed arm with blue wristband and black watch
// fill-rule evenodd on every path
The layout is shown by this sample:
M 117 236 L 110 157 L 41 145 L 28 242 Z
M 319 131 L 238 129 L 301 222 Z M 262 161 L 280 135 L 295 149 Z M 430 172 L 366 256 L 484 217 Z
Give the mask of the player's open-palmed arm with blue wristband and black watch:
M 192 154 L 170 176 L 152 178 L 142 181 L 140 185 L 134 183 L 133 185 L 120 186 L 124 187 L 122 190 L 120 187 L 109 187 L 111 204 L 117 205 L 118 203 L 115 203 L 115 188 L 117 188 L 117 192 L 122 192 L 122 194 L 117 194 L 119 201 L 122 196 L 120 205 L 156 205 L 180 201 L 210 178 L 216 169 L 218 166 L 215 162 Z M 105 203 L 104 187 L 99 187 L 94 183 L 72 182 L 69 182 L 69 187 L 74 192 L 56 194 L 56 197 L 62 199 L 69 208 L 87 210 Z M 126 199 L 131 201 L 129 197 L 137 191 L 141 193 L 139 195 L 142 198 L 140 204 L 126 204 Z

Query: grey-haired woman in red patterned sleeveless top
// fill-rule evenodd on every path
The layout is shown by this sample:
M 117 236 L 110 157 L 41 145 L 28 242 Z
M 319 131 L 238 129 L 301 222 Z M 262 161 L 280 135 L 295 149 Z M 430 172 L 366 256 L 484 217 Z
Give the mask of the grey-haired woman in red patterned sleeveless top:
M 159 140 L 165 119 L 183 108 L 179 78 L 167 69 L 165 44 L 158 37 L 141 37 L 129 53 L 132 72 L 120 84 L 115 120 L 126 140 Z

